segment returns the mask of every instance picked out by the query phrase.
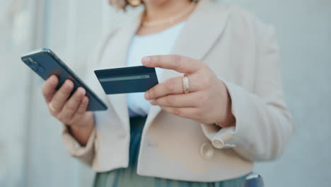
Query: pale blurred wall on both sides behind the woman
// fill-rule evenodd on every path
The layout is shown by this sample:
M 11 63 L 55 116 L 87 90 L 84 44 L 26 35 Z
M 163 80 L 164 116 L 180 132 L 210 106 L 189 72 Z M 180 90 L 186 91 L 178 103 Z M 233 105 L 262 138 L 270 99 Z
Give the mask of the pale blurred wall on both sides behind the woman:
M 331 183 L 330 0 L 228 0 L 277 30 L 286 101 L 296 132 L 276 162 L 256 164 L 267 186 Z M 66 154 L 42 81 L 19 57 L 50 47 L 75 72 L 96 40 L 121 24 L 106 0 L 0 0 L 0 186 L 91 186 L 93 172 Z M 18 81 L 19 79 L 19 81 Z

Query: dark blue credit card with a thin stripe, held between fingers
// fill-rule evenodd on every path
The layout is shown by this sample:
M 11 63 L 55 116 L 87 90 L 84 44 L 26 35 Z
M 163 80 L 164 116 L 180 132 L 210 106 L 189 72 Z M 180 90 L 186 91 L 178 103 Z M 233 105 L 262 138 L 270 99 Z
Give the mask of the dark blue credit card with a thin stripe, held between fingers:
M 121 67 L 94 71 L 105 94 L 145 92 L 158 84 L 153 67 Z

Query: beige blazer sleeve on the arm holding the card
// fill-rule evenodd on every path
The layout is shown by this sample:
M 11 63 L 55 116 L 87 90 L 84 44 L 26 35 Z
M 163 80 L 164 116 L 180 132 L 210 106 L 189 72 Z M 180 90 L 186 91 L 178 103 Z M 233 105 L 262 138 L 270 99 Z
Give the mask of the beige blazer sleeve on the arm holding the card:
M 294 124 L 284 102 L 274 29 L 259 21 L 255 22 L 255 29 L 255 89 L 250 92 L 222 79 L 231 96 L 236 126 L 202 124 L 202 130 L 216 148 L 233 147 L 245 159 L 267 161 L 284 152 Z

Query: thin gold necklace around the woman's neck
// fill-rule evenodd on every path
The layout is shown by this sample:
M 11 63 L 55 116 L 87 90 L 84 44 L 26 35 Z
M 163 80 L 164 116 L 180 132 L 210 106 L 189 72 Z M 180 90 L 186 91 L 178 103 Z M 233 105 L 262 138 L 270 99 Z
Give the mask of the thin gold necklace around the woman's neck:
M 173 16 L 170 18 L 166 18 L 160 21 L 146 21 L 146 12 L 144 16 L 144 20 L 142 21 L 141 25 L 144 27 L 154 27 L 154 26 L 168 26 L 176 23 L 178 20 L 181 18 L 185 17 L 190 13 L 194 8 L 197 3 L 192 2 L 190 6 L 188 6 L 185 11 L 182 11 L 182 13 L 178 14 L 177 16 Z

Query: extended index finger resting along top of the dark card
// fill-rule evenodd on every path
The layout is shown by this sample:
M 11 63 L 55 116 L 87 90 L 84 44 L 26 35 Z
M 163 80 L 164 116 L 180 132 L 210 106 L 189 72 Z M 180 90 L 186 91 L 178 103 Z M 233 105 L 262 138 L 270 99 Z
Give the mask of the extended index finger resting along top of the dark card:
M 202 67 L 202 62 L 194 60 L 190 57 L 180 55 L 155 55 L 147 56 L 141 59 L 141 62 L 146 67 L 160 67 L 163 69 L 173 69 L 176 72 L 190 74 L 197 72 Z

